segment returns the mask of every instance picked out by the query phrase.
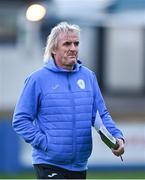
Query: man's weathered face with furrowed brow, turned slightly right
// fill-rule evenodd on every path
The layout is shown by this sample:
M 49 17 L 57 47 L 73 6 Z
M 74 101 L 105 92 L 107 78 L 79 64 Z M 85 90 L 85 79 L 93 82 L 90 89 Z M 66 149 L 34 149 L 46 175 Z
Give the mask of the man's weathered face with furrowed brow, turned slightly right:
M 73 69 L 78 57 L 78 45 L 79 37 L 75 32 L 62 32 L 53 50 L 55 63 L 64 69 Z

